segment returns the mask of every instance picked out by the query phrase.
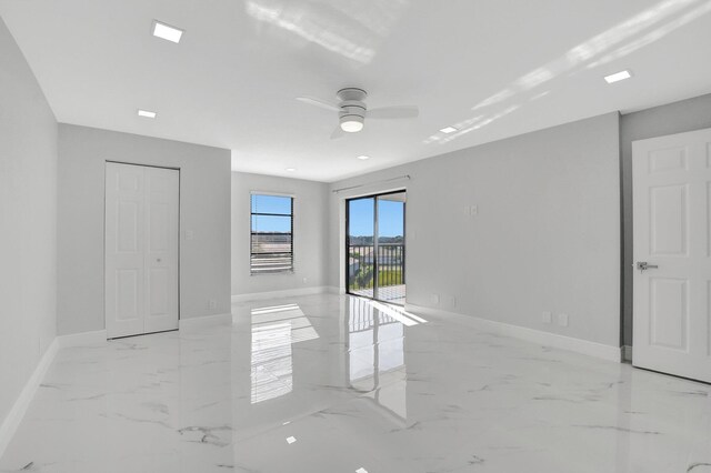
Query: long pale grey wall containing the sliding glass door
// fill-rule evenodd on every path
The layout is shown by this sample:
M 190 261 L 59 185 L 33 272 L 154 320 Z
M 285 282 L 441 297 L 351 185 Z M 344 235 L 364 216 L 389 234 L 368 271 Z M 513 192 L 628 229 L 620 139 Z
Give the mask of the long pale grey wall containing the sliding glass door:
M 377 159 L 377 158 L 375 158 Z M 619 114 L 610 113 L 336 182 L 402 174 L 408 303 L 619 346 Z M 329 280 L 342 281 L 342 199 Z M 478 205 L 467 217 L 464 208 Z M 337 258 L 337 255 L 339 255 Z M 433 303 L 431 294 L 439 294 Z M 541 322 L 567 313 L 570 326 Z

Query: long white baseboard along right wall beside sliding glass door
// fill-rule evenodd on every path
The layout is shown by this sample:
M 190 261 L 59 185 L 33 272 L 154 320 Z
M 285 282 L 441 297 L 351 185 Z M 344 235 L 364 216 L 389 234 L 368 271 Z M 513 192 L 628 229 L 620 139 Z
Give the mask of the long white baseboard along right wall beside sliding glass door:
M 423 315 L 430 315 L 439 319 L 453 320 L 468 326 L 472 326 L 477 330 L 512 336 L 544 346 L 568 350 L 571 352 L 613 361 L 617 363 L 622 360 L 622 353 L 619 346 L 605 345 L 598 342 L 590 342 L 588 340 L 573 339 L 572 336 L 559 335 L 557 333 L 543 332 L 541 330 L 511 325 L 508 323 L 495 322 L 473 315 L 464 315 L 455 312 L 442 311 L 439 309 L 423 308 L 420 305 L 405 304 L 405 310 L 415 314 L 421 313 Z

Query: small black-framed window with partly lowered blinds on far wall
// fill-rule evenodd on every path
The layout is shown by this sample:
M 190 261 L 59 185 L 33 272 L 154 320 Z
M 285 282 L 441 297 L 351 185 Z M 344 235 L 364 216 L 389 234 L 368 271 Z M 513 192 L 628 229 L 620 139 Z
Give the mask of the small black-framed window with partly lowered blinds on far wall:
M 293 271 L 293 198 L 252 194 L 252 274 Z

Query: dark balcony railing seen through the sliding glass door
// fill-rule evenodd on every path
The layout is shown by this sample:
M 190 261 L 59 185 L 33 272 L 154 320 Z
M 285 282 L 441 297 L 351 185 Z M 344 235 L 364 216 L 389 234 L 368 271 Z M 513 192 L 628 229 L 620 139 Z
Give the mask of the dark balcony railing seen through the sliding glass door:
M 350 291 L 373 288 L 378 265 L 378 288 L 404 284 L 404 244 L 378 243 L 354 244 L 348 248 L 348 285 Z

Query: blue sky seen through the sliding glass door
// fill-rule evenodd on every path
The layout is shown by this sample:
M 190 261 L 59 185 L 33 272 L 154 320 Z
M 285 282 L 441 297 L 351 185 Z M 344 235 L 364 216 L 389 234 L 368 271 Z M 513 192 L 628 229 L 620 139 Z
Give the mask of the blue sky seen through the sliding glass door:
M 372 198 L 350 201 L 348 220 L 351 236 L 372 236 L 373 201 L 374 199 Z M 403 202 L 378 201 L 378 230 L 380 236 L 403 235 Z

